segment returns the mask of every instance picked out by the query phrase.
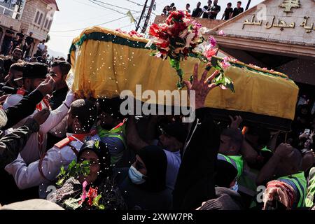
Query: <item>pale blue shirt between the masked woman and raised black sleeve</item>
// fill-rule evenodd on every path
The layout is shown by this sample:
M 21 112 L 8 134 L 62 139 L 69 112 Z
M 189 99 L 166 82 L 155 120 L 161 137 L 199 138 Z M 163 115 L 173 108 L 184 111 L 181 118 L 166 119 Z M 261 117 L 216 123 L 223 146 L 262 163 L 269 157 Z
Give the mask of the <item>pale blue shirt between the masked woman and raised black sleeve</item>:
M 179 167 L 181 166 L 181 153 L 179 151 L 170 152 L 164 150 L 167 155 L 167 175 L 166 184 L 167 188 L 174 190 L 174 186 L 177 179 L 177 174 L 179 174 Z

